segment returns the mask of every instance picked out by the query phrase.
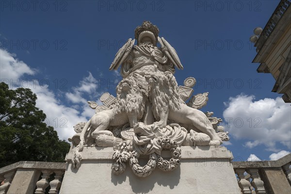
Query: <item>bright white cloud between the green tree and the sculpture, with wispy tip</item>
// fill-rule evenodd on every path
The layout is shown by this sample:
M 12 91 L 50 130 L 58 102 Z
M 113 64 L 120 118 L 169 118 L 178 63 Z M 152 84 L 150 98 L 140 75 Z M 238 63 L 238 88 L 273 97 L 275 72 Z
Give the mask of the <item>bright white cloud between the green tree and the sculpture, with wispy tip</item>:
M 37 95 L 36 106 L 46 113 L 47 123 L 55 128 L 60 139 L 67 140 L 72 137 L 75 134 L 73 126 L 88 121 L 87 118 L 91 118 L 95 114 L 94 110 L 88 106 L 87 100 L 81 96 L 86 94 L 88 97 L 89 94 L 95 94 L 96 82 L 89 72 L 89 76 L 83 78 L 79 82 L 79 86 L 72 89 L 73 93 L 65 93 L 66 97 L 76 104 L 75 106 L 65 106 L 53 91 L 44 89 L 46 87 L 43 86 L 40 87 L 38 83 L 35 88 L 31 88 Z

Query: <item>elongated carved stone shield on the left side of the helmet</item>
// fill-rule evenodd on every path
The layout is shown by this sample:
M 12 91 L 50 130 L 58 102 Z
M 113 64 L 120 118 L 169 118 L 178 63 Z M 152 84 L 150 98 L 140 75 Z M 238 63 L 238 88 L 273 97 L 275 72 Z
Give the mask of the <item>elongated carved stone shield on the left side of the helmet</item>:
M 109 70 L 117 70 L 119 65 L 126 59 L 126 57 L 129 55 L 133 45 L 134 45 L 135 39 L 129 40 L 123 45 L 118 52 L 115 54 L 115 58 L 109 68 Z

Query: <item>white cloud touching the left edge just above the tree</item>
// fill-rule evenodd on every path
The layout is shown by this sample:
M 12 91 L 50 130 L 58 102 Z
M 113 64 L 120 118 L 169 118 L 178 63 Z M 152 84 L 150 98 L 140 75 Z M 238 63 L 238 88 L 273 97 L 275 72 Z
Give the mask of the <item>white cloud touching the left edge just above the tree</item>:
M 19 61 L 16 58 L 16 54 L 9 53 L 6 50 L 0 49 L 0 79 L 4 82 L 4 79 L 8 79 L 8 82 L 17 82 L 17 79 L 24 74 L 34 75 L 35 70 L 30 68 L 23 61 Z

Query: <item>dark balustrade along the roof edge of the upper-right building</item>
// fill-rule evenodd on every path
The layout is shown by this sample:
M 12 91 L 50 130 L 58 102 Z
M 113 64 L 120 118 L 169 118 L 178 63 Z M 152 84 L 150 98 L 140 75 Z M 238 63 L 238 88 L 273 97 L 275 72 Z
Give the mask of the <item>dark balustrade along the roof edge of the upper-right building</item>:
M 261 49 L 261 47 L 264 45 L 265 41 L 269 37 L 269 35 L 274 30 L 276 24 L 278 23 L 279 19 L 283 16 L 287 8 L 289 7 L 291 3 L 291 0 L 281 0 L 278 6 L 276 7 L 273 15 L 269 19 L 267 25 L 261 32 L 258 41 L 255 44 L 255 47 L 257 47 L 257 52 Z

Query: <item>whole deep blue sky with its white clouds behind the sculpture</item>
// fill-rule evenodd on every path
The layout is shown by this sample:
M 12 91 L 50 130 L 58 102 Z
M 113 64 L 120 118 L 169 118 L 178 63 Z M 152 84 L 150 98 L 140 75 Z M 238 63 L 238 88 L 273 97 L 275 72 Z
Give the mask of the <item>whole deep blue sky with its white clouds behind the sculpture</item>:
M 94 114 L 87 100 L 116 94 L 110 83 L 121 77 L 109 66 L 134 29 L 149 20 L 184 66 L 175 73 L 178 84 L 196 78 L 194 94 L 210 92 L 201 110 L 229 121 L 226 147 L 235 160 L 290 152 L 290 104 L 271 92 L 271 74 L 257 73 L 249 42 L 279 0 L 33 2 L 0 1 L 1 81 L 31 88 L 61 139 Z

